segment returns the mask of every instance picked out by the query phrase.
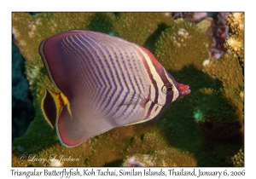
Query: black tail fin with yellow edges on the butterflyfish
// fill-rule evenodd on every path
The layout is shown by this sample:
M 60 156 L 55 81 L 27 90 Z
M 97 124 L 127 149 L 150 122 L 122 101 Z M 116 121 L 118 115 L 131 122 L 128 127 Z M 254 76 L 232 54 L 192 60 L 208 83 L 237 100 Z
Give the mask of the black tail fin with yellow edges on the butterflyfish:
M 48 124 L 55 128 L 55 124 L 61 114 L 62 107 L 64 105 L 61 93 L 55 93 L 51 90 L 45 90 L 45 95 L 41 102 L 41 110 L 44 114 L 45 120 Z

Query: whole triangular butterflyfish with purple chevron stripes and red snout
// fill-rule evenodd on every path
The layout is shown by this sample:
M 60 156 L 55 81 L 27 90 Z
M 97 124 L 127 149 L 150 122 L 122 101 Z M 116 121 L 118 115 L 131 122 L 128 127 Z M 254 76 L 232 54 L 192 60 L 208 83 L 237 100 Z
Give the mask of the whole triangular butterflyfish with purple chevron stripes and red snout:
M 44 39 L 39 54 L 61 91 L 46 89 L 41 109 L 66 147 L 146 122 L 190 93 L 148 49 L 102 32 L 61 32 Z

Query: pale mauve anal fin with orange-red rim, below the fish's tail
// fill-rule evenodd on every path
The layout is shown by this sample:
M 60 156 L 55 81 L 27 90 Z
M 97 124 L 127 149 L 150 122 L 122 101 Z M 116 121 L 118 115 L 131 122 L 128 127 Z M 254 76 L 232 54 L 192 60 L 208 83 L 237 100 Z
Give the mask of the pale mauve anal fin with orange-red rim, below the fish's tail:
M 80 111 L 80 108 L 73 103 L 71 104 L 71 110 L 73 111 L 73 117 L 68 112 L 67 105 L 64 105 L 56 123 L 57 134 L 61 144 L 65 147 L 78 146 L 93 136 L 113 129 L 113 126 L 108 124 L 106 119 L 98 116 L 95 116 L 95 118 L 88 116 L 90 110 Z

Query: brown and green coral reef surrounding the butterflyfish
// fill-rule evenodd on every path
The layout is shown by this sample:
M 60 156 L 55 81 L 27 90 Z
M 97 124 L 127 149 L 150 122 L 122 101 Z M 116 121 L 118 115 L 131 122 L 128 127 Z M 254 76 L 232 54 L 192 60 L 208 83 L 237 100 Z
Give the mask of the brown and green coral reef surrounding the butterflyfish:
M 218 60 L 212 55 L 222 42 L 213 40 L 218 28 L 212 18 L 206 13 L 13 13 L 14 43 L 26 59 L 36 117 L 13 141 L 12 165 L 241 166 L 235 160 L 243 148 L 241 57 L 237 50 Z M 58 90 L 38 47 L 44 38 L 73 29 L 105 32 L 150 49 L 192 92 L 147 123 L 109 130 L 77 147 L 62 146 L 40 109 L 45 89 Z

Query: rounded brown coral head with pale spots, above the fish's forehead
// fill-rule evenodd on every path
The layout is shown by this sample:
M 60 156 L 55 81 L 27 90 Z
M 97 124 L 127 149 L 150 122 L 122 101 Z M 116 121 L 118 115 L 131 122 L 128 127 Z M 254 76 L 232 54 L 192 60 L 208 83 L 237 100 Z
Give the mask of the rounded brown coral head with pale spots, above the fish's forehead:
M 209 58 L 208 44 L 206 34 L 195 24 L 177 19 L 160 34 L 155 43 L 155 55 L 170 71 L 189 65 L 201 70 L 202 62 Z

